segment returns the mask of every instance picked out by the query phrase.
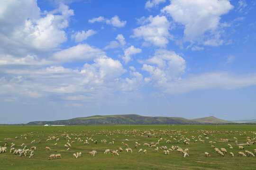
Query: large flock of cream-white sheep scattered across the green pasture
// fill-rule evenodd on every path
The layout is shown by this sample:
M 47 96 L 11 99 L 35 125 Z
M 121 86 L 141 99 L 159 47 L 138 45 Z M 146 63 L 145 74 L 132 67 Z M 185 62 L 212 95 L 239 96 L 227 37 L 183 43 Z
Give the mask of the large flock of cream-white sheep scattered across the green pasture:
M 59 131 L 61 132 L 61 131 Z M 44 136 L 44 132 L 42 132 Z M 197 133 L 198 136 L 190 136 L 189 133 Z M 221 134 L 224 133 L 227 137 L 227 135 L 229 136 L 229 139 L 217 139 L 215 137 L 215 134 Z M 247 136 L 246 138 L 244 137 L 243 141 L 240 141 L 240 143 L 238 143 L 238 139 L 236 137 L 231 137 L 231 136 L 235 136 L 238 135 L 239 136 Z M 36 135 L 38 136 L 38 132 L 36 133 Z M 117 140 L 115 138 L 113 138 L 113 136 L 116 136 L 116 138 L 119 138 L 120 135 L 125 135 L 127 138 L 130 139 L 125 139 L 125 140 Z M 5 138 L 6 141 L 9 140 L 18 140 L 18 138 L 24 138 L 25 140 L 28 140 L 28 138 L 30 137 L 31 139 L 35 136 L 35 133 L 31 132 L 28 134 L 24 134 L 24 135 L 20 135 L 19 137 L 16 136 L 14 139 L 12 138 Z M 246 157 L 246 156 L 252 156 L 255 157 L 254 153 L 256 153 L 256 149 L 254 149 L 254 151 L 248 151 L 245 150 L 244 146 L 250 146 L 256 143 L 256 132 L 246 132 L 246 131 L 211 131 L 211 130 L 197 130 L 194 131 L 192 130 L 191 132 L 189 132 L 188 130 L 153 130 L 153 129 L 147 129 L 147 130 L 99 130 L 98 133 L 95 133 L 95 131 L 87 131 L 85 133 L 85 131 L 82 131 L 80 134 L 78 133 L 71 133 L 71 132 L 64 132 L 62 134 L 54 134 L 54 132 L 52 132 L 52 134 L 50 136 L 47 136 L 47 139 L 41 139 L 44 143 L 46 143 L 46 152 L 51 151 L 50 146 L 50 141 L 56 141 L 55 144 L 52 144 L 53 147 L 59 145 L 60 141 L 64 141 L 65 144 L 63 145 L 63 148 L 66 148 L 66 152 L 70 151 L 70 148 L 72 147 L 71 144 L 74 143 L 78 143 L 78 144 L 83 144 L 83 145 L 88 145 L 88 144 L 97 144 L 98 141 L 94 140 L 94 136 L 97 136 L 99 138 L 99 136 L 101 136 L 102 140 L 101 143 L 102 144 L 106 144 L 108 145 L 108 147 L 112 147 L 114 145 L 116 145 L 116 150 L 112 149 L 106 149 L 104 151 L 104 154 L 108 154 L 111 153 L 111 155 L 113 156 L 119 156 L 119 154 L 121 152 L 125 152 L 125 153 L 133 153 L 132 149 L 128 146 L 128 143 L 131 144 L 131 142 L 129 141 L 133 141 L 134 140 L 134 145 L 132 145 L 133 148 L 135 149 L 139 149 L 138 153 L 144 153 L 146 154 L 147 151 L 150 152 L 155 152 L 155 153 L 159 153 L 159 151 L 161 150 L 163 154 L 165 155 L 170 155 L 170 153 L 175 152 L 175 153 L 181 153 L 183 155 L 184 158 L 188 157 L 189 154 L 189 148 L 185 148 L 184 150 L 182 149 L 182 147 L 176 145 L 172 145 L 171 147 L 167 147 L 166 144 L 171 144 L 171 143 L 176 143 L 176 144 L 183 144 L 185 147 L 187 147 L 187 145 L 190 145 L 190 143 L 195 144 L 197 142 L 201 142 L 201 143 L 205 143 L 206 140 L 211 140 L 209 142 L 207 142 L 207 144 L 209 144 L 209 147 L 212 149 L 211 153 L 216 153 L 219 156 L 224 156 L 225 154 L 227 154 L 227 149 L 226 148 L 220 148 L 218 149 L 217 147 L 215 147 L 215 145 L 217 143 L 220 142 L 226 142 L 227 147 L 229 148 L 229 155 L 231 157 L 234 157 L 234 153 L 233 152 L 238 152 L 237 155 L 238 156 L 242 156 L 242 157 Z M 111 136 L 111 137 L 110 137 Z M 166 139 L 161 136 L 168 136 L 169 139 Z M 103 139 L 105 138 L 105 139 Z M 147 138 L 147 140 L 151 139 L 152 142 L 149 143 L 143 143 L 140 144 L 139 141 L 140 139 L 136 139 L 136 138 Z M 73 140 L 72 140 L 73 139 Z M 5 144 L 3 146 L 0 146 L 0 153 L 5 153 L 7 152 L 8 148 L 10 149 L 9 152 L 15 155 L 19 155 L 19 156 L 28 156 L 29 158 L 33 158 L 34 157 L 34 153 L 36 153 L 36 149 L 37 146 L 35 146 L 36 143 L 41 143 L 41 140 L 32 140 L 30 143 L 23 143 L 23 144 L 15 144 L 15 143 L 11 143 L 10 145 L 8 144 L 8 142 L 5 142 Z M 72 141 L 71 141 L 72 140 Z M 231 143 L 230 140 L 234 140 L 235 142 Z M 108 142 L 109 141 L 109 142 Z M 30 148 L 27 148 L 28 144 L 32 144 L 33 146 L 31 146 Z M 235 144 L 236 146 L 232 146 L 231 144 Z M 9 146 L 8 146 L 9 145 Z M 162 146 L 160 146 L 162 145 Z M 243 146 L 244 145 L 244 146 Z M 90 146 L 89 146 L 90 147 Z M 86 148 L 89 148 L 86 147 Z M 125 150 L 122 149 L 125 148 Z M 142 149 L 141 147 L 144 147 L 144 149 Z M 250 147 L 251 148 L 251 147 Z M 241 150 L 244 150 L 245 152 L 241 152 Z M 207 151 L 204 153 L 204 155 L 206 157 L 210 157 L 210 151 Z M 88 152 L 90 156 L 96 156 L 98 154 L 97 151 L 93 150 L 93 151 L 89 151 Z M 76 152 L 73 153 L 73 158 L 77 159 L 80 158 L 82 155 L 82 152 Z M 51 154 L 48 159 L 49 160 L 54 160 L 54 159 L 61 159 L 61 154 L 57 153 L 57 154 Z

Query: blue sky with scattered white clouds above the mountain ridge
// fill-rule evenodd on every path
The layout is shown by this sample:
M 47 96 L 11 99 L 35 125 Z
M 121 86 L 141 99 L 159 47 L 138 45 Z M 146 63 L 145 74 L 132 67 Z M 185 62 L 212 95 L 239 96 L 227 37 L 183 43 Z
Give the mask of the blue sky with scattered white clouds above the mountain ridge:
M 1 0 L 0 123 L 256 119 L 256 0 Z

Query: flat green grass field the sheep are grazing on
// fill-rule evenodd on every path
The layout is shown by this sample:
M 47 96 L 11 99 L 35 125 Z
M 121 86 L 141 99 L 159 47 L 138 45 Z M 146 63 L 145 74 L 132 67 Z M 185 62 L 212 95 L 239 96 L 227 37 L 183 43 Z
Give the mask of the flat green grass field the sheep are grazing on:
M 204 136 L 201 130 L 204 130 L 207 136 Z M 7 152 L 0 153 L 0 170 L 253 170 L 256 169 L 256 157 L 238 156 L 238 152 L 245 152 L 245 150 L 254 153 L 256 144 L 246 145 L 247 136 L 251 138 L 251 143 L 256 137 L 256 135 L 253 136 L 253 132 L 256 132 L 256 125 L 0 126 L 0 146 L 4 146 L 5 142 L 8 143 Z M 68 141 L 62 136 L 64 133 L 71 137 L 70 143 L 75 141 L 71 144 L 70 151 L 66 151 L 64 147 Z M 24 138 L 24 134 L 27 134 L 27 139 Z M 148 135 L 152 137 L 148 137 Z M 199 140 L 198 136 L 200 135 L 202 136 L 201 140 L 204 140 L 205 143 L 194 143 L 194 140 Z M 17 139 L 15 139 L 16 136 Z M 58 136 L 59 141 L 56 142 L 56 139 L 46 141 L 48 136 Z M 88 141 L 89 144 L 83 144 L 87 137 L 90 138 L 91 136 L 98 143 L 94 144 Z M 183 150 L 188 148 L 189 157 L 183 158 L 183 154 L 176 153 L 176 151 L 170 152 L 170 155 L 165 155 L 160 149 L 159 153 L 155 153 L 154 148 L 143 146 L 144 143 L 156 143 L 160 136 L 163 140 L 157 145 L 158 147 L 171 148 L 174 145 L 180 146 Z M 192 139 L 192 136 L 195 136 L 195 139 Z M 80 137 L 83 142 L 80 143 L 75 140 L 75 137 Z M 189 138 L 190 144 L 183 144 L 184 139 L 182 137 L 184 139 Z M 245 150 L 238 150 L 238 145 L 235 144 L 233 137 L 238 138 L 238 144 L 242 145 Z M 109 144 L 112 138 L 115 139 L 115 143 Z M 210 147 L 212 144 L 209 144 L 209 141 L 214 142 L 215 138 L 217 142 L 214 146 L 219 149 L 226 148 L 228 151 L 228 153 L 224 153 L 224 157 L 214 153 L 214 149 Z M 229 142 L 221 142 L 221 138 L 229 139 Z M 101 143 L 103 139 L 108 141 L 107 144 Z M 125 141 L 125 139 L 129 141 Z M 165 139 L 171 140 L 172 143 L 166 143 Z M 178 143 L 180 139 L 182 140 Z M 32 140 L 36 142 L 31 144 Z M 41 143 L 38 143 L 39 140 Z M 134 148 L 136 140 L 141 144 L 138 148 Z M 126 147 L 122 142 L 128 144 L 133 153 L 126 153 Z M 27 145 L 27 148 L 36 146 L 34 158 L 29 158 L 29 154 L 25 157 L 9 153 L 11 143 L 15 144 L 15 149 L 24 148 L 21 147 L 23 143 Z M 54 146 L 55 143 L 57 143 L 56 146 Z M 231 144 L 233 149 L 229 149 L 228 144 Z M 46 146 L 50 147 L 51 151 L 46 151 Z M 104 154 L 106 149 L 117 150 L 119 147 L 124 150 L 119 152 L 119 156 L 112 156 L 111 153 Z M 138 153 L 140 148 L 146 149 L 147 153 Z M 94 157 L 88 154 L 92 150 L 98 152 Z M 82 152 L 82 156 L 75 159 L 73 153 L 77 152 Z M 205 152 L 210 153 L 211 157 L 206 157 Z M 235 156 L 231 157 L 229 152 L 233 152 Z M 57 153 L 61 154 L 62 159 L 48 160 L 49 155 Z

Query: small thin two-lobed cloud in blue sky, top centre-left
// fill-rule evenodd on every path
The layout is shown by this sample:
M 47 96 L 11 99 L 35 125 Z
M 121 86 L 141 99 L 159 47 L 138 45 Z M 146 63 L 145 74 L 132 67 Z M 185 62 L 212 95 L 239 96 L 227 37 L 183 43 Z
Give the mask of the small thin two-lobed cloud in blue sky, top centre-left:
M 115 27 L 124 27 L 126 25 L 127 21 L 120 21 L 118 16 L 114 16 L 110 19 L 104 18 L 102 16 L 97 18 L 92 18 L 88 20 L 89 23 L 95 23 L 95 22 L 105 22 L 108 25 L 115 26 Z

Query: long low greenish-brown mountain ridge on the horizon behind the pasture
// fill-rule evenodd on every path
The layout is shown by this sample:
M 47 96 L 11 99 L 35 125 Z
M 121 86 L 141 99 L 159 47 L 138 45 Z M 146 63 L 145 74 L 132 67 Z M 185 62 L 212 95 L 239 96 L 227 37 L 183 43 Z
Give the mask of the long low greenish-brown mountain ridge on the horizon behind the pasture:
M 168 124 L 225 124 L 232 123 L 227 120 L 217 119 L 213 116 L 200 119 L 184 119 L 178 117 L 149 117 L 136 114 L 89 116 L 68 120 L 32 121 L 27 125 L 168 125 Z

